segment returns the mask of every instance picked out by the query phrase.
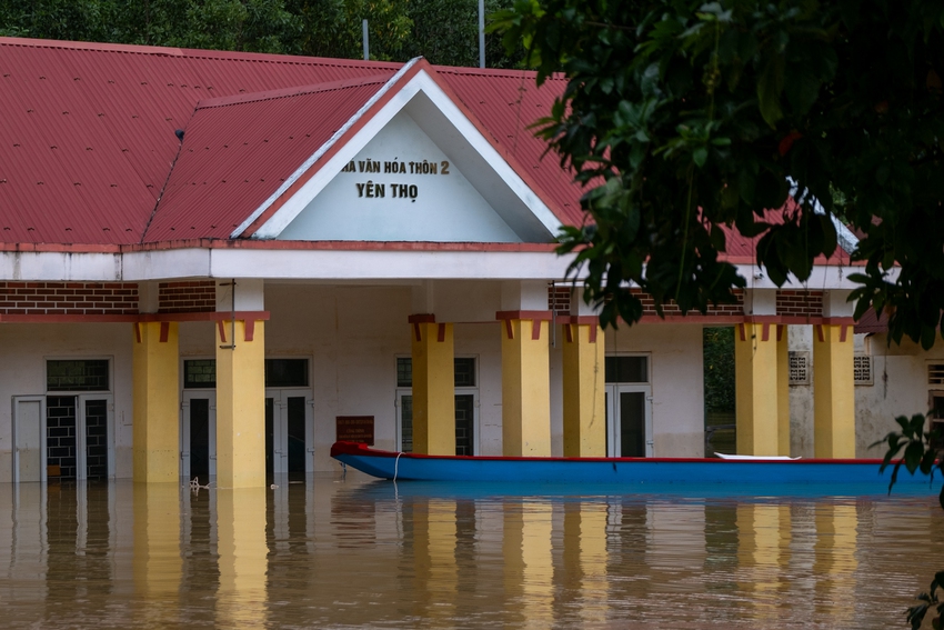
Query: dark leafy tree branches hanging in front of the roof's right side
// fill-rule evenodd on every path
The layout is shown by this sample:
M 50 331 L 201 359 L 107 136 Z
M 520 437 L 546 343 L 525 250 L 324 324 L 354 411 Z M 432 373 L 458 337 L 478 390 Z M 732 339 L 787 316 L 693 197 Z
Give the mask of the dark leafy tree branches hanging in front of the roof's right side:
M 495 28 L 539 83 L 569 79 L 538 132 L 586 187 L 560 251 L 604 324 L 641 317 L 630 282 L 683 311 L 732 301 L 722 226 L 802 282 L 838 211 L 864 234 L 856 314 L 944 334 L 944 1 L 516 0 Z

